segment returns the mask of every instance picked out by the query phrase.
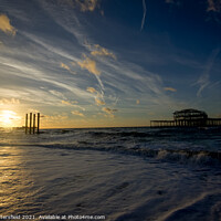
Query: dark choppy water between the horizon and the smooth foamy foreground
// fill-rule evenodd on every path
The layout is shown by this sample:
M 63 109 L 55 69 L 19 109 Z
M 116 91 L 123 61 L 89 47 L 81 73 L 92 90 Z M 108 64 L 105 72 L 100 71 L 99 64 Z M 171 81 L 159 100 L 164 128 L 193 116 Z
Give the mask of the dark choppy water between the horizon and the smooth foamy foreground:
M 0 146 L 113 151 L 193 165 L 221 165 L 220 128 L 44 129 L 41 135 L 0 134 Z

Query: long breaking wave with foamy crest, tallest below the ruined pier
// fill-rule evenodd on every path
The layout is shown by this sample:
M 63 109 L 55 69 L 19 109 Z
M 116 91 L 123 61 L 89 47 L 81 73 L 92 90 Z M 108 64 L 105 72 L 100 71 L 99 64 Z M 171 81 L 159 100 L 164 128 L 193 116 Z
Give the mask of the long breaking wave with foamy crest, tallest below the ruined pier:
M 178 162 L 182 165 L 198 166 L 221 166 L 221 152 L 208 150 L 189 150 L 189 149 L 151 149 L 140 147 L 115 146 L 93 146 L 87 141 L 78 144 L 1 144 L 0 146 L 30 146 L 43 147 L 51 149 L 69 149 L 69 150 L 99 150 L 110 151 L 123 155 L 139 156 L 144 158 L 152 158 L 164 162 Z

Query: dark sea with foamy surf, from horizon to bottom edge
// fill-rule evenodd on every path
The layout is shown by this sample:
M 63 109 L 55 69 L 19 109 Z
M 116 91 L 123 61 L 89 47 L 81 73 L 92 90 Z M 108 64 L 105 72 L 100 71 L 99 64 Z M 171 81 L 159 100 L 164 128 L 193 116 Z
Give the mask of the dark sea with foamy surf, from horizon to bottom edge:
M 0 128 L 0 220 L 221 221 L 221 128 Z

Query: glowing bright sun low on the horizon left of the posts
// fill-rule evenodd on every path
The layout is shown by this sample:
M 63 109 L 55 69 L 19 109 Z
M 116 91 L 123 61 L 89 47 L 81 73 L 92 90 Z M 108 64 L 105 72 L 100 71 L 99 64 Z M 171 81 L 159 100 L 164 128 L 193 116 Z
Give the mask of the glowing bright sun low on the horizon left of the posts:
M 0 112 L 0 126 L 2 127 L 15 127 L 18 126 L 18 120 L 21 117 L 17 115 L 15 112 L 12 110 L 1 110 Z

